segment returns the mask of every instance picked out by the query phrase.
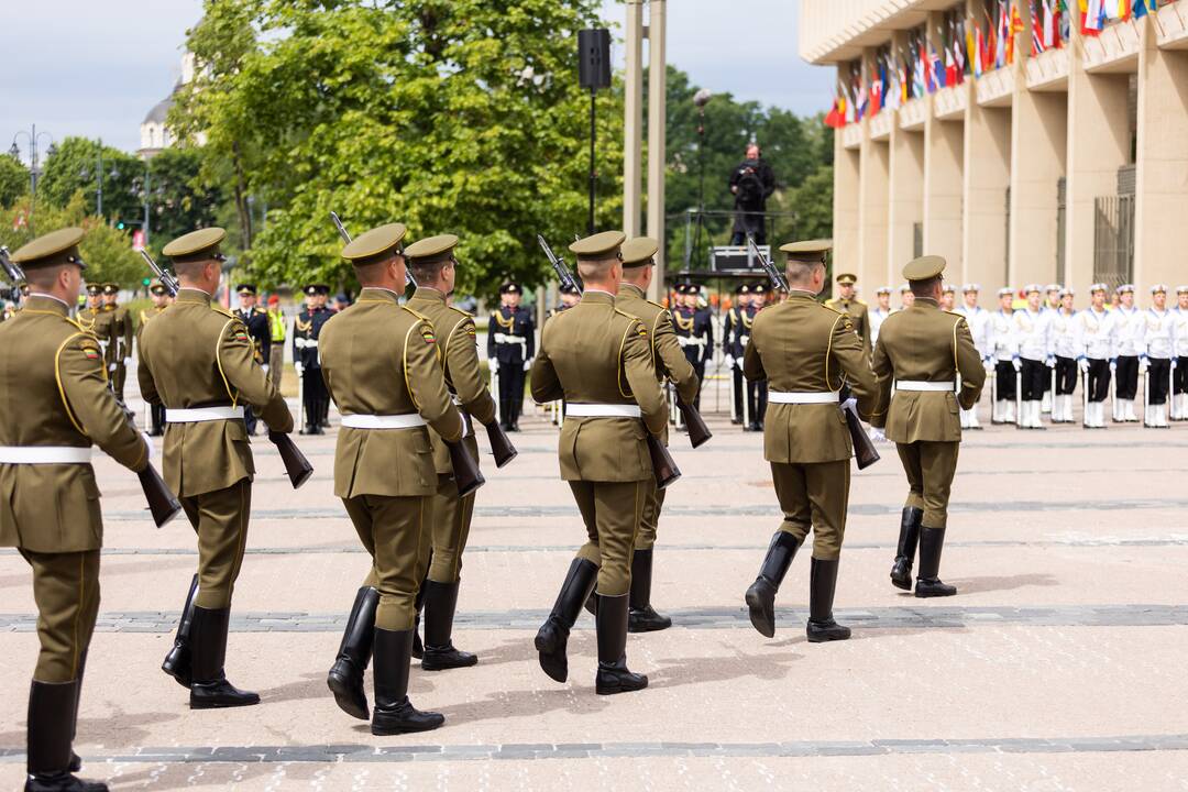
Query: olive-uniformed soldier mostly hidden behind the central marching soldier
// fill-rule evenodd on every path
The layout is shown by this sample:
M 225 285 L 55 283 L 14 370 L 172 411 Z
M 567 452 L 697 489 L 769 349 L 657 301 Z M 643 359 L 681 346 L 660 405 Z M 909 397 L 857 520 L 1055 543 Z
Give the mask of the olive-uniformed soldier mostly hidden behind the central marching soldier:
M 614 300 L 615 308 L 644 323 L 651 344 L 652 365 L 656 376 L 676 386 L 684 404 L 693 404 L 697 395 L 697 374 L 681 351 L 681 344 L 672 332 L 672 317 L 668 310 L 646 298 L 656 266 L 659 242 L 650 236 L 639 236 L 623 246 L 623 284 Z M 661 433 L 668 444 L 668 425 Z M 644 501 L 643 519 L 636 536 L 636 551 L 631 557 L 631 596 L 627 612 L 628 633 L 650 633 L 666 629 L 672 620 L 652 608 L 652 556 L 656 547 L 656 528 L 664 506 L 664 490 L 656 487 L 655 477 Z

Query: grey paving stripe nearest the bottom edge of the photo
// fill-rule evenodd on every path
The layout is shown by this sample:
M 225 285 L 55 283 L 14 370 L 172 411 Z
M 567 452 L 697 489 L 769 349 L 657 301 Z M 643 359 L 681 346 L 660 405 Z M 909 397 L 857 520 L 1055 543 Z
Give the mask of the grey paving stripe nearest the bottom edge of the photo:
M 561 742 L 504 745 L 310 745 L 139 747 L 88 756 L 108 764 L 449 762 L 543 759 L 677 759 L 696 756 L 874 756 L 883 754 L 1054 754 L 1188 749 L 1186 734 L 1100 737 L 974 737 L 801 740 L 792 742 Z M 21 762 L 23 748 L 0 748 L 0 761 Z

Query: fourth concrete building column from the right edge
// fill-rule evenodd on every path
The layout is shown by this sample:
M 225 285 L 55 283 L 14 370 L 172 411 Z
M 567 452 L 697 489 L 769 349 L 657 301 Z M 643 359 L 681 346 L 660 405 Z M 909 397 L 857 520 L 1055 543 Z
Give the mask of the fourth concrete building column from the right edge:
M 1011 110 L 966 109 L 961 260 L 963 280 L 981 284 L 982 302 L 1006 283 L 1006 189 L 1011 172 Z

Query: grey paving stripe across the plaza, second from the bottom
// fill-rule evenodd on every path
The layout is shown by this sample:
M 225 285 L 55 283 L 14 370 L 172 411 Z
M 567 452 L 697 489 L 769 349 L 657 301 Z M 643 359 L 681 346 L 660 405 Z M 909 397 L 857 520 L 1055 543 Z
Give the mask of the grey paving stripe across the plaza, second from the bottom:
M 782 627 L 798 628 L 808 619 L 803 608 L 778 608 Z M 457 614 L 460 629 L 535 631 L 548 610 L 478 610 Z M 669 610 L 674 625 L 685 629 L 752 629 L 742 607 L 683 608 Z M 171 633 L 177 612 L 103 612 L 95 625 L 101 633 Z M 1188 625 L 1188 604 L 1101 604 L 1012 608 L 1009 606 L 895 606 L 842 608 L 836 617 L 854 629 L 969 629 L 973 627 L 1167 627 Z M 335 633 L 346 625 L 346 610 L 339 613 L 268 612 L 236 613 L 230 628 L 238 633 Z M 592 628 L 589 620 L 580 628 Z M 33 632 L 37 614 L 0 614 L 0 632 Z

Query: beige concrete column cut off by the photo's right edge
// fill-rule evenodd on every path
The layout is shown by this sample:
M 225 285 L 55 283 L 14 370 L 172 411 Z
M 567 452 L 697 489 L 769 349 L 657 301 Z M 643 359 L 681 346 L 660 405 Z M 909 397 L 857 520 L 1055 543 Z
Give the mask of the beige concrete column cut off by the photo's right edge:
M 1188 51 L 1158 49 L 1155 33 L 1146 24 L 1138 58 L 1135 281 L 1144 292 L 1188 281 Z

